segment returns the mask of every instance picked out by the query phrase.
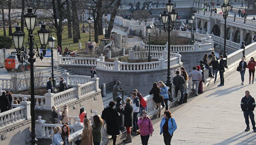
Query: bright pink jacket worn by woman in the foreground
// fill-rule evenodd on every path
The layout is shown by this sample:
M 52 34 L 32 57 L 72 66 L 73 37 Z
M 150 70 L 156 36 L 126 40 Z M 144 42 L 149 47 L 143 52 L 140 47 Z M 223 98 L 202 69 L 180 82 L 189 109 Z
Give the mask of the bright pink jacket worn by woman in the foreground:
M 140 135 L 146 136 L 153 133 L 153 125 L 148 117 L 144 119 L 140 118 L 137 124 L 140 126 Z

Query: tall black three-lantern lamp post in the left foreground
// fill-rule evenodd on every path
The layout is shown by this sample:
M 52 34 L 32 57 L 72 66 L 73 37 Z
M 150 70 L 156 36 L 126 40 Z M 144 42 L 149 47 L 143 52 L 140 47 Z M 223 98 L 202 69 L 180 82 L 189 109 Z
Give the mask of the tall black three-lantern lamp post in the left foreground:
M 35 86 L 34 86 L 34 62 L 36 61 L 36 57 L 39 57 L 41 60 L 44 58 L 46 54 L 45 46 L 48 43 L 48 37 L 49 37 L 49 31 L 46 29 L 45 24 L 41 24 L 41 29 L 38 30 L 38 35 L 41 43 L 41 48 L 44 48 L 42 50 L 42 53 L 39 53 L 37 45 L 34 43 L 34 35 L 33 31 L 35 28 L 36 24 L 36 15 L 32 12 L 32 8 L 30 8 L 30 5 L 28 6 L 27 14 L 24 15 L 26 26 L 28 29 L 28 62 L 30 62 L 30 89 L 31 89 L 31 106 L 30 106 L 30 113 L 31 113 L 31 145 L 36 145 L 37 139 L 36 139 L 36 129 L 35 129 Z M 16 26 L 16 31 L 12 34 L 12 39 L 14 42 L 14 47 L 17 51 L 17 57 L 18 61 L 20 63 L 24 62 L 24 59 L 27 59 L 26 57 L 26 51 L 27 48 L 25 48 L 25 55 L 24 57 L 21 56 L 21 49 L 23 45 L 23 40 L 24 40 L 25 33 L 20 31 L 20 26 Z M 35 45 L 35 47 L 34 47 Z

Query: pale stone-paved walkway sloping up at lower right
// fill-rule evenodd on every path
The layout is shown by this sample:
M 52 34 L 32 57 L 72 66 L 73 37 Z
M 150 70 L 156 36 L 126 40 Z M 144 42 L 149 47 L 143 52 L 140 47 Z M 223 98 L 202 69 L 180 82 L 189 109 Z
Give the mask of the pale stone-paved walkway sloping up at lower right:
M 256 145 L 256 133 L 251 130 L 245 132 L 246 124 L 240 101 L 249 90 L 256 98 L 256 82 L 248 84 L 248 69 L 245 74 L 245 83 L 241 85 L 240 73 L 233 68 L 226 72 L 225 85 L 218 87 L 216 83 L 204 88 L 204 93 L 192 97 L 188 103 L 171 109 L 172 117 L 176 119 L 178 129 L 174 132 L 172 145 Z M 254 111 L 255 113 L 256 111 Z M 160 135 L 160 119 L 153 120 L 154 132 L 148 145 L 164 145 Z M 121 141 L 119 145 L 122 145 Z M 140 135 L 126 145 L 140 145 Z

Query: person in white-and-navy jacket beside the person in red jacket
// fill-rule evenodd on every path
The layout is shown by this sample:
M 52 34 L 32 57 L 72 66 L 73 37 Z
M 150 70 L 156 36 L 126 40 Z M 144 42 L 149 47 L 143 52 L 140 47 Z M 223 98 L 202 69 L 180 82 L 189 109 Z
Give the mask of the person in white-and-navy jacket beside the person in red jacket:
M 137 122 L 138 122 L 138 113 L 140 112 L 140 100 L 139 98 L 136 96 L 136 93 L 132 93 L 132 107 L 133 107 L 133 120 L 132 120 L 132 124 L 133 124 L 133 131 L 132 134 L 137 134 L 137 129 L 139 129 Z

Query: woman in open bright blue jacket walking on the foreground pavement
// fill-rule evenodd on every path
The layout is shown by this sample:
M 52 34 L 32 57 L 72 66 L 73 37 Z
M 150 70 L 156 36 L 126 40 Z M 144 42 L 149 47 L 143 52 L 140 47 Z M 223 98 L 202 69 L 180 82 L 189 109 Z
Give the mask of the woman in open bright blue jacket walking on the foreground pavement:
M 164 111 L 164 117 L 160 123 L 160 135 L 163 133 L 164 144 L 171 145 L 173 132 L 177 129 L 177 124 L 174 118 L 172 118 L 169 110 Z

